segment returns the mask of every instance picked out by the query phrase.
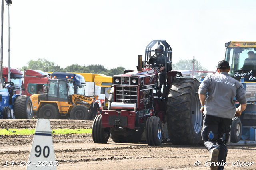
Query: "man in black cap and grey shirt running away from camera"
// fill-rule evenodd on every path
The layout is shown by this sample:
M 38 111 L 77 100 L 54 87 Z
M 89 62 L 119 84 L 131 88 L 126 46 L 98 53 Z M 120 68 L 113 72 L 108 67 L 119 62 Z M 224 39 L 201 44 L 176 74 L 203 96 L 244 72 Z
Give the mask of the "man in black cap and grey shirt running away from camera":
M 239 117 L 246 108 L 244 87 L 230 77 L 229 71 L 228 62 L 220 61 L 217 67 L 219 74 L 206 76 L 198 90 L 201 112 L 205 115 L 201 134 L 206 149 L 210 151 L 211 170 L 224 169 L 232 118 Z M 235 97 L 240 104 L 238 108 L 233 101 Z

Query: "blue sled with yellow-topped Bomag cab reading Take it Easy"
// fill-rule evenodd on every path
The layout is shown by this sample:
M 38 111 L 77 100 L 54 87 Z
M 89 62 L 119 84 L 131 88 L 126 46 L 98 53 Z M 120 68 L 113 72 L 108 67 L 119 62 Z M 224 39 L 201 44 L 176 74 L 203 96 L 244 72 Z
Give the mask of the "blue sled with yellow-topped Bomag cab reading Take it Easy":
M 245 89 L 247 106 L 240 117 L 232 120 L 232 143 L 256 144 L 256 42 L 229 41 L 225 43 L 225 60 L 230 65 L 230 76 L 240 81 Z M 236 102 L 236 106 L 239 104 Z

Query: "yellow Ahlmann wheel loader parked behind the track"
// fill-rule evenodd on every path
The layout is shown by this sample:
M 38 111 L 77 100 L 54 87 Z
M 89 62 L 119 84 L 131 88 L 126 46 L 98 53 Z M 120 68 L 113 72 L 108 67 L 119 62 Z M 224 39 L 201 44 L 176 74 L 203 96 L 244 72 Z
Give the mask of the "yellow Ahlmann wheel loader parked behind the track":
M 98 96 L 84 96 L 78 94 L 83 87 L 71 79 L 49 79 L 49 84 L 44 88 L 43 94 L 30 96 L 33 112 L 40 118 L 60 119 L 68 118 L 77 120 L 91 120 L 88 107 L 92 98 Z

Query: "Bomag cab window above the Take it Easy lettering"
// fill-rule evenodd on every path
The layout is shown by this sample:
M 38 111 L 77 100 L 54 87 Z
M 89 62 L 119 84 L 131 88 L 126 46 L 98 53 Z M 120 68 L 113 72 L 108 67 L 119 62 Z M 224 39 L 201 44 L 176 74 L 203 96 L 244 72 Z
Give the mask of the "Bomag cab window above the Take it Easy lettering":
M 248 47 L 226 48 L 225 60 L 230 64 L 230 75 L 238 70 L 256 70 L 256 49 Z

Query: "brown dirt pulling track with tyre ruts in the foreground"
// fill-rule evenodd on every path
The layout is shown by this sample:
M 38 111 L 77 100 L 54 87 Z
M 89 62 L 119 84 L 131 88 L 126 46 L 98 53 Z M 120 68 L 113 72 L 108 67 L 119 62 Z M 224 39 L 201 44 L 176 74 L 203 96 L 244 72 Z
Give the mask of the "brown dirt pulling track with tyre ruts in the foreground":
M 0 120 L 1 128 L 35 129 L 37 120 Z M 51 129 L 92 128 L 92 121 L 51 120 Z M 28 161 L 34 135 L 0 135 L 0 169 L 25 170 L 26 166 L 4 166 L 6 161 Z M 208 170 L 209 153 L 202 145 L 148 146 L 146 143 L 95 144 L 91 134 L 52 135 L 57 170 Z M 228 145 L 228 170 L 256 170 L 255 145 Z M 238 162 L 236 162 L 238 160 Z M 200 165 L 194 164 L 201 162 Z M 235 163 L 236 162 L 236 163 Z M 240 166 L 249 162 L 251 166 Z M 255 162 L 255 163 L 252 163 Z M 232 166 L 232 163 L 234 166 Z M 206 164 L 207 165 L 207 164 Z

